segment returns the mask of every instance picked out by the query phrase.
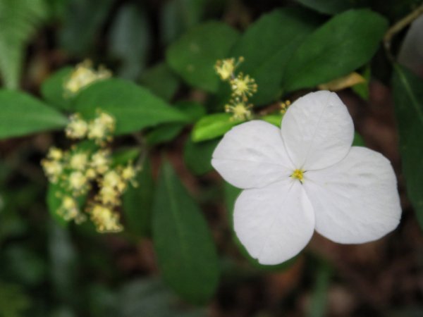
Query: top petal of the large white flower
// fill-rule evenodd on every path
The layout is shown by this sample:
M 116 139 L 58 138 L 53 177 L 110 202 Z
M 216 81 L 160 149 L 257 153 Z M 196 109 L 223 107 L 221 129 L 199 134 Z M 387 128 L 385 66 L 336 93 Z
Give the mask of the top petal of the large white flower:
M 347 108 L 333 92 L 306 94 L 295 101 L 282 120 L 282 137 L 296 168 L 317 170 L 347 155 L 354 125 Z

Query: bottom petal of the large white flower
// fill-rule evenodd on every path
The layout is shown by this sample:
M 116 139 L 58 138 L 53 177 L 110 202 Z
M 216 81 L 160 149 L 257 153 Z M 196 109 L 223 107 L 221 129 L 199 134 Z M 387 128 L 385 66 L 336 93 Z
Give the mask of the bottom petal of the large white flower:
M 298 180 L 245 189 L 235 202 L 236 235 L 259 263 L 274 265 L 297 255 L 314 232 L 314 212 Z

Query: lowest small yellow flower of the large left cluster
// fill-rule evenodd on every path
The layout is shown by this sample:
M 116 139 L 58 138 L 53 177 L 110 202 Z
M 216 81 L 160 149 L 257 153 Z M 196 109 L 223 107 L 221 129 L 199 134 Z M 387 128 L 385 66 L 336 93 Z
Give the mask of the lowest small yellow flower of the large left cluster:
M 119 232 L 123 230 L 123 226 L 119 223 L 118 213 L 109 207 L 94 204 L 89 212 L 98 232 Z

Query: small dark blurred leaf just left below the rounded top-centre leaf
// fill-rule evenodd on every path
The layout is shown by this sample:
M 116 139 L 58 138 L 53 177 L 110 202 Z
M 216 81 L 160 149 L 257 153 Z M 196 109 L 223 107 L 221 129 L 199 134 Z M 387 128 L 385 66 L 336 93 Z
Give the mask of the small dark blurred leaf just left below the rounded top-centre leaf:
M 154 94 L 170 101 L 179 87 L 179 80 L 166 63 L 158 63 L 142 74 L 141 84 Z

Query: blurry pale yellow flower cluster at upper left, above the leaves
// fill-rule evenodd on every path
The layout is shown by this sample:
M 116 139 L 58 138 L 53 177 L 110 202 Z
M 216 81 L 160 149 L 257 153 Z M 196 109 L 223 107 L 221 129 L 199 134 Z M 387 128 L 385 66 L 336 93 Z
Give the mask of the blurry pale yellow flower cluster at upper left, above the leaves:
M 74 95 L 80 91 L 80 89 L 87 87 L 93 82 L 98 80 L 104 80 L 111 77 L 111 71 L 100 66 L 98 70 L 92 67 L 92 61 L 85 60 L 75 66 L 75 70 L 71 73 L 71 76 L 64 84 L 66 94 Z

